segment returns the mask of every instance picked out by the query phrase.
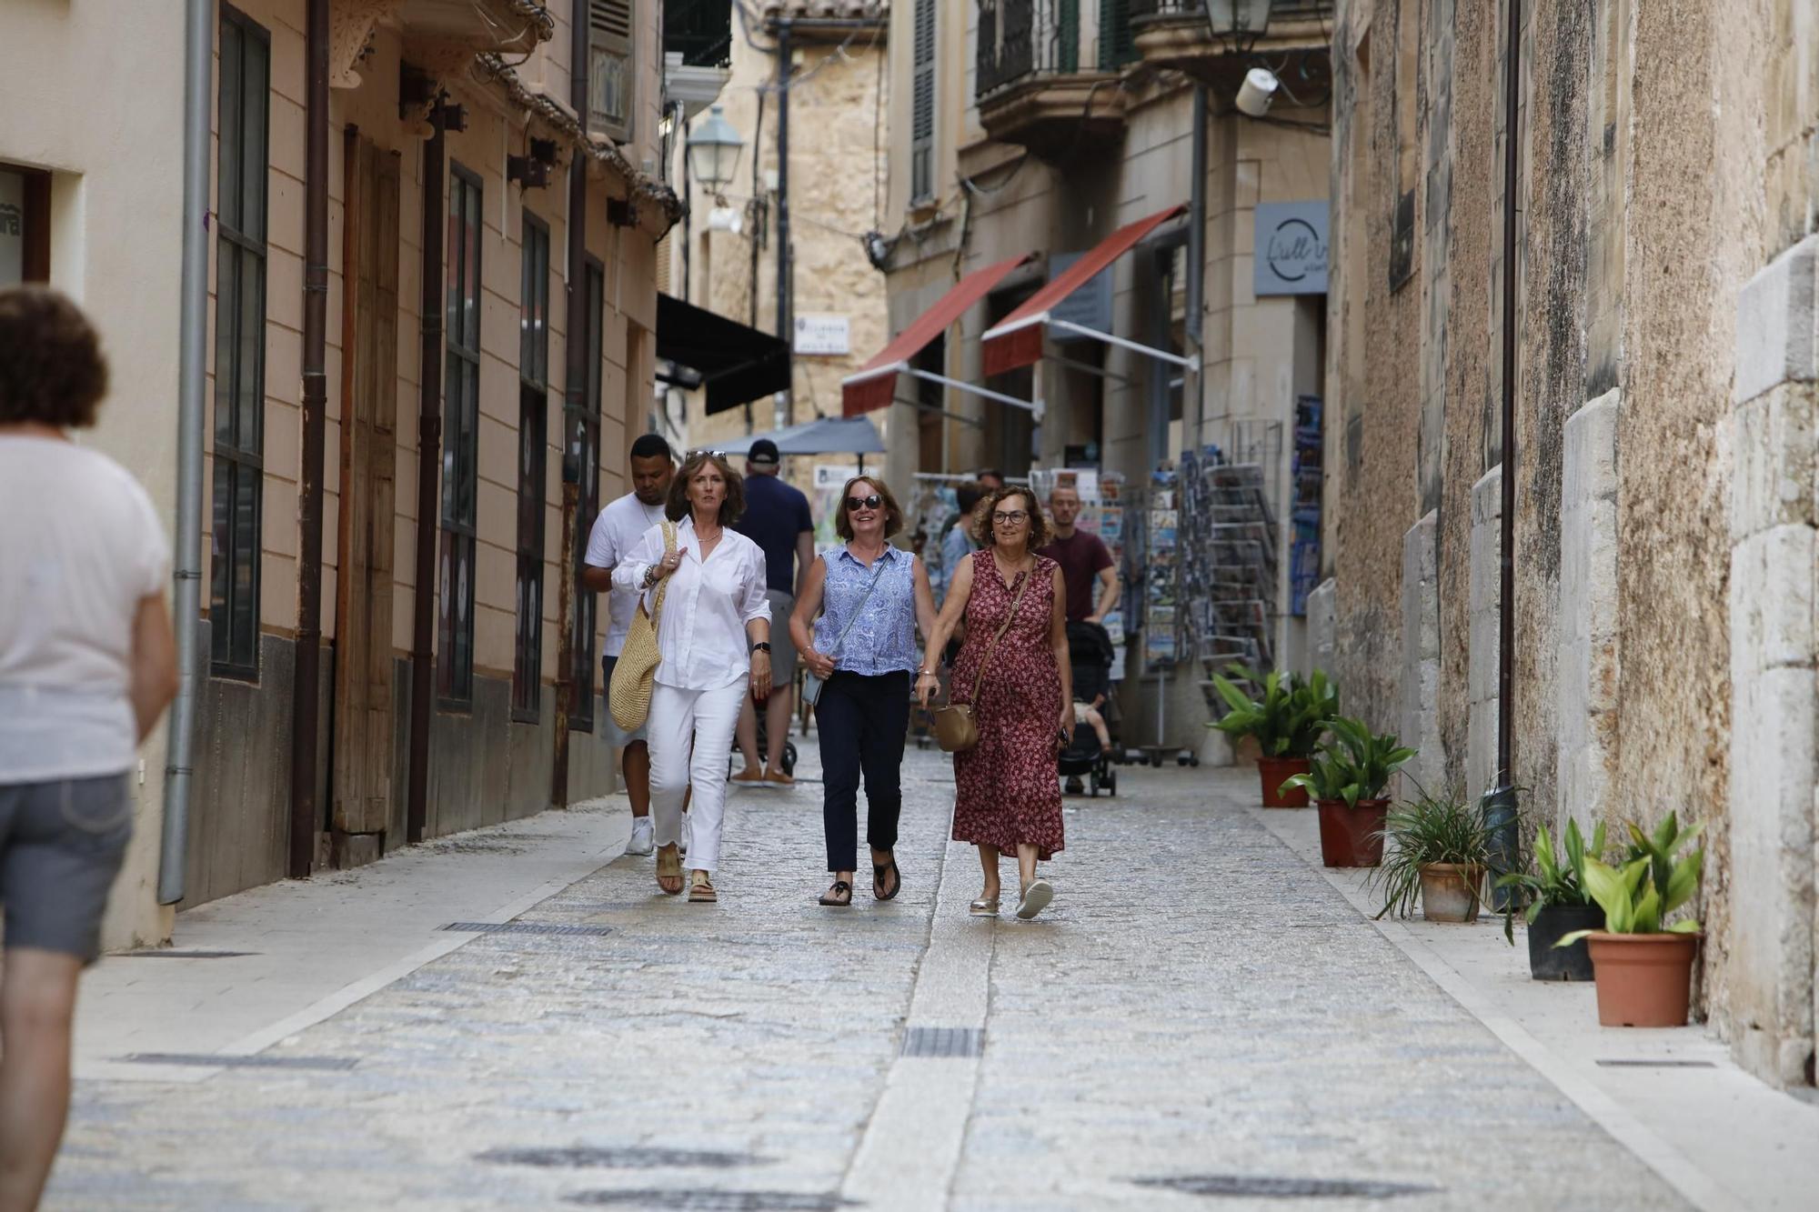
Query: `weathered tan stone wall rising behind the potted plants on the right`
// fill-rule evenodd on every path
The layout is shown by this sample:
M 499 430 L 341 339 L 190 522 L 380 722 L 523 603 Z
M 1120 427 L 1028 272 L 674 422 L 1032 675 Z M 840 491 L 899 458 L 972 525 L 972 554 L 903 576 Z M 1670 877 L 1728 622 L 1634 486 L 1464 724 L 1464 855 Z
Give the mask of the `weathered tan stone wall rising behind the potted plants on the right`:
M 1523 15 L 1504 468 L 1506 9 L 1344 0 L 1322 586 L 1348 708 L 1497 775 L 1515 475 L 1526 826 L 1706 823 L 1699 1008 L 1814 1083 L 1810 7 Z

